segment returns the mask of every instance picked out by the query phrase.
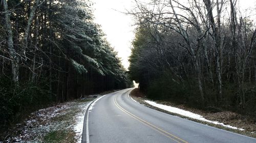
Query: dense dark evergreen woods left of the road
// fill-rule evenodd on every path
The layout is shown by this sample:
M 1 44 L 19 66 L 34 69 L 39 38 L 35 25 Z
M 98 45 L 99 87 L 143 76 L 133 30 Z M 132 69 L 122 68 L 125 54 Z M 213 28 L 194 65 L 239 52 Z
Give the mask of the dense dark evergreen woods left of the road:
M 131 86 L 92 2 L 0 2 L 1 126 L 50 103 Z

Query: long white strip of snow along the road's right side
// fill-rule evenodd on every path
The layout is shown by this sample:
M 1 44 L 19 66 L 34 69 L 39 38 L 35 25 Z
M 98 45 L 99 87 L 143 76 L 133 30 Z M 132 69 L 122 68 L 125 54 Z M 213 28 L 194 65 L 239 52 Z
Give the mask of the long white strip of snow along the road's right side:
M 185 117 L 189 117 L 189 118 L 192 118 L 192 119 L 197 119 L 197 120 L 200 120 L 200 121 L 204 121 L 204 122 L 208 122 L 208 123 L 212 123 L 212 124 L 216 124 L 216 125 L 221 125 L 221 126 L 231 128 L 231 129 L 238 129 L 238 130 L 241 130 L 241 131 L 244 130 L 244 129 L 241 129 L 241 128 L 238 128 L 238 127 L 225 125 L 225 124 L 217 122 L 217 121 L 207 120 L 207 119 L 203 118 L 203 116 L 198 115 L 198 114 L 193 113 L 193 112 L 190 112 L 190 111 L 186 111 L 186 110 L 183 110 L 183 109 L 179 109 L 179 108 L 176 108 L 176 107 L 167 106 L 167 105 L 163 105 L 163 104 L 158 104 L 154 101 L 149 101 L 149 100 L 144 100 L 144 101 L 146 103 L 148 103 L 150 105 L 153 105 L 155 107 L 158 107 L 160 109 L 163 109 L 163 110 L 166 110 L 166 111 L 169 111 L 169 112 L 173 112 L 173 113 L 177 113 L 177 114 L 185 116 Z

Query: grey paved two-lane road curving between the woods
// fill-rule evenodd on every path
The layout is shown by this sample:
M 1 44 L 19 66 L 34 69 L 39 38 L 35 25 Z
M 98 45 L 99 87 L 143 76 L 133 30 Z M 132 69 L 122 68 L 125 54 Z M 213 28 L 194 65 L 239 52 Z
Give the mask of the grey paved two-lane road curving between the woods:
M 255 138 L 188 121 L 133 101 L 125 89 L 97 99 L 84 118 L 82 142 L 256 142 Z

